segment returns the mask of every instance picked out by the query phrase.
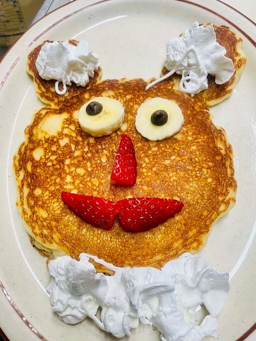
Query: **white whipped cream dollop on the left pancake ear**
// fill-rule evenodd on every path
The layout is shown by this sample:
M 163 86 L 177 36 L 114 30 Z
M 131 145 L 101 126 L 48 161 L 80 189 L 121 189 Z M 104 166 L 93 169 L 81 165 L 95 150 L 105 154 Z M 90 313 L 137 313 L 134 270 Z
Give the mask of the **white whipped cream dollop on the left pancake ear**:
M 56 80 L 55 91 L 63 95 L 71 82 L 85 86 L 89 77 L 94 77 L 94 70 L 99 67 L 99 56 L 90 51 L 89 44 L 83 40 L 77 46 L 66 42 L 45 43 L 36 60 L 40 77 Z M 63 83 L 63 90 L 59 83 Z

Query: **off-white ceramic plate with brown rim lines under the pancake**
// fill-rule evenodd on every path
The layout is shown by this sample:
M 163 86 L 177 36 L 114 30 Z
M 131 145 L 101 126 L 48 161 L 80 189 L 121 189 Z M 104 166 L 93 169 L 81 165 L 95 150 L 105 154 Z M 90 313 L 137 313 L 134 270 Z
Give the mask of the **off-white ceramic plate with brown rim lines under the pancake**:
M 256 307 L 256 66 L 255 44 L 250 38 L 255 35 L 255 26 L 217 0 L 92 2 L 77 0 L 44 17 L 1 63 L 0 326 L 15 341 L 38 337 L 54 341 L 112 340 L 89 319 L 71 326 L 51 312 L 45 292 L 49 281 L 45 258 L 31 247 L 16 211 L 12 156 L 34 110 L 43 106 L 25 71 L 29 51 L 46 39 L 86 39 L 100 54 L 104 79 L 148 79 L 160 74 L 167 40 L 198 20 L 234 29 L 244 39 L 249 60 L 232 96 L 211 109 L 214 123 L 225 128 L 234 149 L 238 193 L 235 208 L 214 225 L 201 251 L 218 271 L 230 273 L 231 289 L 218 317 L 218 334 L 221 341 L 236 340 L 255 323 Z M 248 340 L 255 338 L 253 333 Z M 141 326 L 132 332 L 130 340 L 156 341 L 158 332 Z

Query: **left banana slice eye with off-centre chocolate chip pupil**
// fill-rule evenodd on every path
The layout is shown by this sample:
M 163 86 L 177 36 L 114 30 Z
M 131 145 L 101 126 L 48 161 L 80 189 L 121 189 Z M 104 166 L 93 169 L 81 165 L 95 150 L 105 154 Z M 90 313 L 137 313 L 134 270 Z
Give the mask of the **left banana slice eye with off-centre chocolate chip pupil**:
M 124 116 L 125 109 L 120 101 L 109 97 L 96 97 L 80 108 L 78 121 L 87 134 L 101 137 L 120 128 Z

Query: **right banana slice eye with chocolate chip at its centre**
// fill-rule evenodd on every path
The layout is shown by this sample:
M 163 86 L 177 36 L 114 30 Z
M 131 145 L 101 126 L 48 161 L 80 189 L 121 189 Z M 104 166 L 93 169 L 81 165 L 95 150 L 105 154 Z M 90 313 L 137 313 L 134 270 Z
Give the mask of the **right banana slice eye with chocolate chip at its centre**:
M 137 131 L 150 141 L 163 140 L 176 134 L 183 123 L 180 107 L 169 99 L 161 97 L 142 103 L 135 118 Z

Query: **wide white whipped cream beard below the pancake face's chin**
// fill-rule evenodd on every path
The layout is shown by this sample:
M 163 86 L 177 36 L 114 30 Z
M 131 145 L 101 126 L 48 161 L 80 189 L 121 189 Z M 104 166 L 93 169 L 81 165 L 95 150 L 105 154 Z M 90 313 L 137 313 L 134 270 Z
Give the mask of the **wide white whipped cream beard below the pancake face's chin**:
M 115 274 L 97 273 L 89 258 Z M 229 291 L 227 273 L 216 272 L 205 258 L 189 253 L 170 260 L 161 270 L 120 268 L 87 254 L 81 254 L 79 261 L 58 257 L 48 268 L 52 277 L 47 291 L 59 318 L 75 324 L 88 316 L 117 338 L 130 336 L 139 322 L 154 325 L 161 341 L 216 337 L 216 316 Z M 209 315 L 197 325 L 195 314 L 201 304 Z

